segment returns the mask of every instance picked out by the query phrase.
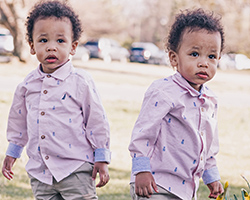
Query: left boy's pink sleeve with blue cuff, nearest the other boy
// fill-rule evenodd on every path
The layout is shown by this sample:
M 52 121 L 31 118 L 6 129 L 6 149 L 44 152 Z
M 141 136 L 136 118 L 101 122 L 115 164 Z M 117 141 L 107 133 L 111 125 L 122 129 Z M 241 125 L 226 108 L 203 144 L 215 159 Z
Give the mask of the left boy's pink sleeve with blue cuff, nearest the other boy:
M 95 162 L 110 163 L 109 123 L 94 81 L 89 77 L 82 91 L 82 109 L 87 138 L 94 149 Z

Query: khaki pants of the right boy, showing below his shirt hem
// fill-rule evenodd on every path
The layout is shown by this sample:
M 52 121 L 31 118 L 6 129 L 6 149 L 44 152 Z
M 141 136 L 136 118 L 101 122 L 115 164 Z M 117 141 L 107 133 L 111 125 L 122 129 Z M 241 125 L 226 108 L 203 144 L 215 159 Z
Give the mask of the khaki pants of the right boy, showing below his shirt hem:
M 140 197 L 135 194 L 135 184 L 130 184 L 130 195 L 132 200 L 181 200 L 176 195 L 168 192 L 167 190 L 163 189 L 162 187 L 157 185 L 159 193 L 153 193 L 150 198 L 147 197 Z

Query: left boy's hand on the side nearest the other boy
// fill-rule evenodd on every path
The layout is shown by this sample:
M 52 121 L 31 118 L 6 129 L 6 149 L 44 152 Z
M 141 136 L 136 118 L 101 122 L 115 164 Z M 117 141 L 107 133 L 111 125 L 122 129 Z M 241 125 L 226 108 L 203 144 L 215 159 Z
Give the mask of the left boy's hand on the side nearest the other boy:
M 99 172 L 100 182 L 96 185 L 96 187 L 102 187 L 109 182 L 108 164 L 105 162 L 96 162 L 94 164 L 94 169 L 92 173 L 93 180 L 96 179 L 97 172 Z

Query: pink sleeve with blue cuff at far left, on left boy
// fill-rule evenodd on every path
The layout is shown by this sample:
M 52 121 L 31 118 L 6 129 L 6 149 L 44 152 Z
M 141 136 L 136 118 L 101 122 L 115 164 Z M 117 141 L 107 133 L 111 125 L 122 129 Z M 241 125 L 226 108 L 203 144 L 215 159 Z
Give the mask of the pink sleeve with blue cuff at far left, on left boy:
M 20 84 L 15 91 L 9 112 L 7 127 L 9 146 L 6 155 L 14 158 L 21 156 L 23 147 L 28 142 L 26 116 L 25 88 Z

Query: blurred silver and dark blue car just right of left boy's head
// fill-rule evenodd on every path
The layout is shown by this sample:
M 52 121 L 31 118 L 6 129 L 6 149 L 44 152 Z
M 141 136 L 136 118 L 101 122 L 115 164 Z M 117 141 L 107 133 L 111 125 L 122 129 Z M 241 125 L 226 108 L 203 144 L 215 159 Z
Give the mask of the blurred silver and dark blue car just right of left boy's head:
M 89 49 L 91 58 L 101 58 L 106 62 L 111 62 L 112 60 L 126 62 L 129 57 L 129 52 L 126 48 L 109 38 L 88 41 L 84 46 Z

